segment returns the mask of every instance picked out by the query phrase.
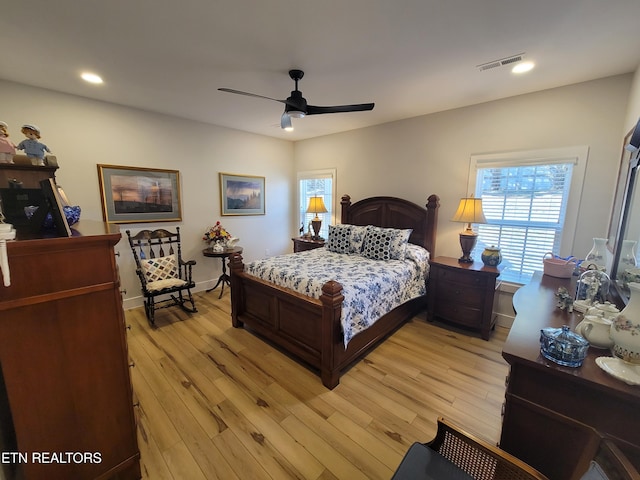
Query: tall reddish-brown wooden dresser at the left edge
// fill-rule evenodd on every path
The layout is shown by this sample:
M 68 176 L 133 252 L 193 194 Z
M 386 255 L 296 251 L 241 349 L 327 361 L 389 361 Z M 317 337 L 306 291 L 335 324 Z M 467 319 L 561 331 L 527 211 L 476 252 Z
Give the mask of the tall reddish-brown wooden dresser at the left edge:
M 12 479 L 140 478 L 117 226 L 7 242 L 0 284 L 0 441 Z M 55 455 L 54 455 L 55 454 Z

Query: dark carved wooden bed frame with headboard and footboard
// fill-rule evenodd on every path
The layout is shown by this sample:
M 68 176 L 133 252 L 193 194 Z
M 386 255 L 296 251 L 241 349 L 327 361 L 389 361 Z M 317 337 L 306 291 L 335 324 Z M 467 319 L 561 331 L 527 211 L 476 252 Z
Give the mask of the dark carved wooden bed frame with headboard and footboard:
M 372 197 L 351 203 L 344 195 L 342 223 L 412 228 L 409 241 L 425 247 L 433 258 L 438 221 L 437 195 L 426 208 L 395 197 Z M 231 318 L 273 342 L 295 358 L 319 370 L 322 383 L 336 387 L 340 375 L 366 352 L 426 307 L 426 295 L 406 302 L 358 333 L 344 348 L 340 322 L 342 285 L 329 281 L 319 299 L 276 286 L 244 272 L 240 254 L 229 257 Z

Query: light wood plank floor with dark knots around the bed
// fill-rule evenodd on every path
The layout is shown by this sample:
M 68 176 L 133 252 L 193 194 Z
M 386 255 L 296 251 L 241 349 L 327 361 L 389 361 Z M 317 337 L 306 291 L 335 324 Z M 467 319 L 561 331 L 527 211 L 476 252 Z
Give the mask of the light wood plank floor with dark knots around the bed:
M 126 312 L 143 478 L 384 479 L 436 418 L 497 443 L 507 331 L 489 342 L 404 325 L 334 390 L 231 326 L 229 295 L 196 294 L 199 312 Z

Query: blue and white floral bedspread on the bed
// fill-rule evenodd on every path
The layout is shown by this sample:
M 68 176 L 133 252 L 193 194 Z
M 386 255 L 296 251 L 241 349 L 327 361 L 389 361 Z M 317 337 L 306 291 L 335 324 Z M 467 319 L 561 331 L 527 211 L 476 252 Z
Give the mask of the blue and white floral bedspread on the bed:
M 346 347 L 378 318 L 425 295 L 429 252 L 408 245 L 404 260 L 382 261 L 316 248 L 251 262 L 245 272 L 312 298 L 320 298 L 322 285 L 329 280 L 342 284 L 341 322 Z

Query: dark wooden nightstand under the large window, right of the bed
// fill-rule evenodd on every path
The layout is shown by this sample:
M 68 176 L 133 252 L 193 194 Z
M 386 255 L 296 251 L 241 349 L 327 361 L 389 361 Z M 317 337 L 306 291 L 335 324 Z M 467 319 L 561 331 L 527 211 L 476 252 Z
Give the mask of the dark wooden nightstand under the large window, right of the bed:
M 428 319 L 436 318 L 479 331 L 489 340 L 502 267 L 482 262 L 459 263 L 450 257 L 431 260 L 428 283 Z

